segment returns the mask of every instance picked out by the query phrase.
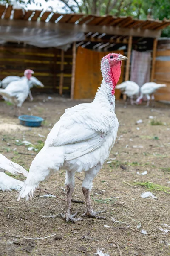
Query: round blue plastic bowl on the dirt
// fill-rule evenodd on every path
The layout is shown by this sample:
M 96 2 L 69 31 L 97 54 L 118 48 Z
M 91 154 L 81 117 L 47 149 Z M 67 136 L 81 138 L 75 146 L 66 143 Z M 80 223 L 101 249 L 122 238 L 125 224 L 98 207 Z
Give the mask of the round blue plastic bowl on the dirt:
M 20 124 L 24 126 L 38 127 L 41 126 L 41 122 L 44 121 L 42 117 L 39 116 L 28 116 L 22 115 L 19 116 Z

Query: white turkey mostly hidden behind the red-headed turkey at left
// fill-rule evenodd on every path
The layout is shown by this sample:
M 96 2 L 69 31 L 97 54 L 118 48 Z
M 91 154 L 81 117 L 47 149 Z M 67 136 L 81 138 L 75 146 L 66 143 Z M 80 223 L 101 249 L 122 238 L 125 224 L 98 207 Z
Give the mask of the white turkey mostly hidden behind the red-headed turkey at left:
M 13 81 L 21 81 L 22 79 L 24 79 L 25 76 L 7 76 L 6 78 L 4 78 L 1 82 L 0 82 L 0 87 L 5 89 L 8 84 L 10 84 L 11 82 Z M 29 81 L 28 81 L 28 84 L 29 84 L 29 88 L 31 89 L 33 86 L 40 86 L 40 87 L 44 87 L 44 84 L 42 84 L 42 82 L 40 82 L 36 77 L 34 76 L 31 76 Z M 31 101 L 33 101 L 33 96 L 31 94 L 31 90 L 29 92 L 29 96 L 30 96 L 30 99 Z

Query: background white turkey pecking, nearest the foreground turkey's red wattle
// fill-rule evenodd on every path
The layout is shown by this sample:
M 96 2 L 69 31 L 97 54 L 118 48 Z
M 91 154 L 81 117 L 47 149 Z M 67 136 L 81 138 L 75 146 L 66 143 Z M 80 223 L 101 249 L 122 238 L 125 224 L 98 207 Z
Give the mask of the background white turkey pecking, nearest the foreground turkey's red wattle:
M 125 81 L 116 86 L 116 89 L 120 89 L 121 92 L 130 98 L 130 104 L 133 105 L 134 96 L 139 96 L 140 87 L 133 81 Z

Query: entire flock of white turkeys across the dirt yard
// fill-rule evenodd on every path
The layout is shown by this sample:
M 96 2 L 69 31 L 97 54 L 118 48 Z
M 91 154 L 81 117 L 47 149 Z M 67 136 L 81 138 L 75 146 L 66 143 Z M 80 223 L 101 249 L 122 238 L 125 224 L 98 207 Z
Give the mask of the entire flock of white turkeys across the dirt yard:
M 102 165 L 108 159 L 113 147 L 119 127 L 115 114 L 115 88 L 119 88 L 130 97 L 131 104 L 136 97 L 136 103 L 142 102 L 147 97 L 147 105 L 150 95 L 165 84 L 146 83 L 141 88 L 132 81 L 126 81 L 116 86 L 121 73 L 121 62 L 127 57 L 121 54 L 108 54 L 102 58 L 101 71 L 102 83 L 94 101 L 76 105 L 65 110 L 60 120 L 54 125 L 45 141 L 42 150 L 31 163 L 29 172 L 22 166 L 11 162 L 0 154 L 0 190 L 20 190 L 19 198 L 33 196 L 39 183 L 45 180 L 52 172 L 60 168 L 66 170 L 65 186 L 67 188 L 67 204 L 62 217 L 65 221 L 79 221 L 75 218 L 77 213 L 71 214 L 71 196 L 74 191 L 75 171 L 85 172 L 82 182 L 82 192 L 85 197 L 86 211 L 82 217 L 105 218 L 100 212 L 95 212 L 91 206 L 90 192 L 94 177 L 98 174 Z M 43 84 L 32 76 L 34 71 L 25 70 L 24 77 L 8 76 L 1 81 L 0 94 L 6 101 L 13 103 L 16 108 L 21 107 L 28 95 L 31 100 L 30 89 L 34 85 Z M 140 93 L 140 95 L 139 95 Z M 9 177 L 4 171 L 12 174 L 26 176 L 25 183 Z

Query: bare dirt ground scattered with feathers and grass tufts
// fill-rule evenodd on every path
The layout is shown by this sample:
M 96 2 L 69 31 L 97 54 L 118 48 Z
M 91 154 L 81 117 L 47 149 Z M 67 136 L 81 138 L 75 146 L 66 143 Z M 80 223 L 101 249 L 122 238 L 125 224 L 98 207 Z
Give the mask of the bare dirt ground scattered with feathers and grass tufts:
M 40 149 L 65 108 L 79 103 L 36 96 L 33 102 L 23 104 L 22 113 L 42 116 L 45 121 L 40 128 L 27 128 L 13 116 L 11 106 L 0 101 L 0 153 L 29 169 L 35 157 L 31 154 L 37 153 L 28 147 Z M 39 187 L 59 198 L 40 197 L 47 194 L 41 190 L 30 201 L 17 202 L 16 191 L 0 192 L 0 256 L 93 256 L 98 248 L 110 256 L 170 255 L 170 227 L 162 225 L 170 225 L 170 105 L 156 103 L 155 108 L 144 108 L 127 104 L 125 108 L 123 102 L 116 101 L 116 115 L 118 137 L 91 192 L 94 209 L 105 209 L 107 219 L 85 217 L 74 224 L 57 215 L 65 211 L 61 200 L 65 198 L 65 171 L 60 170 Z M 139 119 L 142 123 L 136 125 Z M 84 200 L 83 176 L 77 173 L 75 177 L 73 198 L 80 201 Z M 19 179 L 24 180 L 22 176 Z M 142 198 L 147 191 L 156 198 Z M 71 211 L 80 216 L 85 205 L 72 203 Z M 57 217 L 48 218 L 50 215 Z M 54 239 L 54 234 L 62 239 Z M 46 236 L 51 237 L 26 239 Z

